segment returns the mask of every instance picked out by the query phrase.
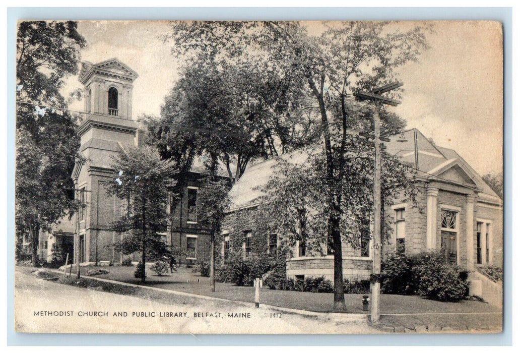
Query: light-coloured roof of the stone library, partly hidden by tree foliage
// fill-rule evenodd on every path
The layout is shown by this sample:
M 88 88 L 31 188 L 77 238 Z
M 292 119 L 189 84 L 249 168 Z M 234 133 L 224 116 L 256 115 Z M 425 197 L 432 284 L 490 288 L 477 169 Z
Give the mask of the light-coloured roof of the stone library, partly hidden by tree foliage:
M 417 170 L 419 175 L 424 175 L 429 180 L 458 183 L 479 189 L 481 198 L 501 203 L 501 198 L 456 151 L 436 146 L 415 128 L 388 137 L 391 141 L 384 142 L 386 151 L 411 166 L 413 172 Z M 302 148 L 249 165 L 229 192 L 231 211 L 256 204 L 256 199 L 262 195 L 259 188 L 270 180 L 278 159 L 302 164 L 312 151 L 319 148 Z

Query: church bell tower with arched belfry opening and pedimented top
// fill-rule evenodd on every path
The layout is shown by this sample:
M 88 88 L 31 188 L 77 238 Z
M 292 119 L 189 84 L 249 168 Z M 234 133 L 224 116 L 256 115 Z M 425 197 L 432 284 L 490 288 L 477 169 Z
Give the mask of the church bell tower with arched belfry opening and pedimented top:
M 84 116 L 76 129 L 79 158 L 72 178 L 76 197 L 85 206 L 78 212 L 75 262 L 120 263 L 113 244 L 120 235 L 111 225 L 121 214 L 121 200 L 106 191 L 119 153 L 140 147 L 143 131 L 132 119 L 133 82 L 138 74 L 118 59 L 83 62 L 78 80 L 84 85 Z

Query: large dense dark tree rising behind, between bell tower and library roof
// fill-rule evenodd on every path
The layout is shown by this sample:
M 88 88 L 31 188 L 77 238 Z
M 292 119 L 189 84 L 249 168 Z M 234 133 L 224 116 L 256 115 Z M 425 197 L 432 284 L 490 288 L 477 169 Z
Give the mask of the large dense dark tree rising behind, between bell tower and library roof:
M 247 53 L 235 61 L 203 53 L 186 59 L 161 119 L 149 121 L 158 147 L 169 151 L 163 154 L 179 153 L 180 146 L 215 153 L 234 184 L 252 159 L 277 156 L 319 136 L 314 119 L 303 113 L 310 107 L 300 76 Z

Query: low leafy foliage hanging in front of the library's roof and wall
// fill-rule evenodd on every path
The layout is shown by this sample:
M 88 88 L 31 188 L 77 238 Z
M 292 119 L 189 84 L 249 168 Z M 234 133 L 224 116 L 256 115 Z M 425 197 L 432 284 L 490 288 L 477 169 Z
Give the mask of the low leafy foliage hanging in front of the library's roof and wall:
M 374 160 L 371 149 L 362 141 L 353 139 L 349 146 L 353 152 L 347 156 L 344 165 L 339 230 L 342 241 L 360 249 L 368 246 L 362 238 L 370 235 Z M 330 185 L 323 174 L 324 151 L 322 147 L 313 147 L 301 153 L 308 156 L 302 164 L 293 162 L 293 159 L 278 161 L 269 182 L 261 187 L 264 195 L 258 200 L 257 217 L 265 219 L 271 233 L 280 235 L 283 251 L 291 251 L 296 241 L 300 241 L 305 242 L 307 253 L 328 255 L 328 249 L 334 248 L 334 239 L 326 222 L 330 212 L 328 197 L 333 192 L 328 189 Z M 385 207 L 392 205 L 397 198 L 410 199 L 417 204 L 417 188 L 411 176 L 408 166 L 385 155 L 382 164 L 382 241 L 388 239 L 393 231 L 386 219 Z

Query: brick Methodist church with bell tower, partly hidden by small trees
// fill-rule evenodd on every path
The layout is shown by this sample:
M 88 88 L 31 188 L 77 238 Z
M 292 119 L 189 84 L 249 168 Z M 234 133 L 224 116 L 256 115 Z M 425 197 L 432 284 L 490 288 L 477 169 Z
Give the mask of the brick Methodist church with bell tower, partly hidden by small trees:
M 68 252 L 73 250 L 74 242 L 74 254 L 78 247 L 81 263 L 123 261 L 124 256 L 113 246 L 121 235 L 111 229 L 121 216 L 122 201 L 107 194 L 104 182 L 111 177 L 112 157 L 139 147 L 144 138 L 145 131 L 132 119 L 133 82 L 137 78 L 136 72 L 117 59 L 82 63 L 78 79 L 84 85 L 86 114 L 76 131 L 81 139 L 79 152 L 85 162 L 77 161 L 72 178 L 76 197 L 86 206 L 76 218 L 63 219 L 51 233 L 42 233 L 42 258 L 50 259 L 54 242 L 67 244 L 64 251 Z M 182 197 L 167 206 L 166 212 L 172 213 L 174 222 L 162 235 L 168 245 L 179 247 L 186 254 L 178 263 L 199 263 L 209 258 L 209 233 L 198 219 L 198 179 L 204 171 L 202 163 L 197 161 L 186 177 Z M 76 227 L 79 241 L 73 241 Z M 132 256 L 132 260 L 139 258 Z

